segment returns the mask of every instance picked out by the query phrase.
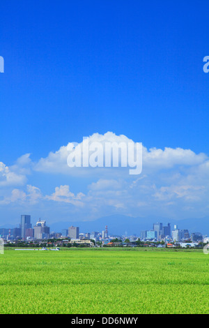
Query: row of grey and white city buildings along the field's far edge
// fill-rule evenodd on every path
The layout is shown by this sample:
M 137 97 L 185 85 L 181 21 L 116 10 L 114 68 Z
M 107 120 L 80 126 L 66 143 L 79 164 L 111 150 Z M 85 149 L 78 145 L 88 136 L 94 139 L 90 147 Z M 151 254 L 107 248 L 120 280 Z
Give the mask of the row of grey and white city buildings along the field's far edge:
M 22 240 L 46 240 L 46 239 L 62 239 L 66 243 L 76 242 L 77 244 L 91 243 L 91 241 L 100 241 L 102 244 L 109 244 L 113 240 L 122 242 L 129 240 L 130 242 L 137 241 L 164 241 L 164 244 L 169 243 L 199 243 L 208 242 L 209 238 L 203 236 L 200 232 L 189 234 L 188 230 L 180 230 L 177 225 L 174 225 L 171 230 L 171 224 L 163 225 L 162 223 L 154 223 L 152 230 L 141 231 L 140 236 L 111 236 L 107 230 L 107 225 L 102 232 L 85 232 L 80 233 L 79 227 L 71 226 L 68 229 L 63 229 L 61 232 L 50 232 L 46 221 L 38 220 L 36 225 L 31 224 L 30 215 L 22 215 L 19 228 L 0 229 L 0 237 L 8 241 Z

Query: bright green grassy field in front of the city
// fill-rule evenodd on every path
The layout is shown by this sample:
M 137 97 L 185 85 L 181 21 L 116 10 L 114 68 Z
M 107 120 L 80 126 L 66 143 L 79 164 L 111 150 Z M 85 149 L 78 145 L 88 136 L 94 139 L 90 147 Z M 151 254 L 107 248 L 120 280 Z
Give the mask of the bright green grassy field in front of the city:
M 0 313 L 207 313 L 203 251 L 62 249 L 0 255 Z

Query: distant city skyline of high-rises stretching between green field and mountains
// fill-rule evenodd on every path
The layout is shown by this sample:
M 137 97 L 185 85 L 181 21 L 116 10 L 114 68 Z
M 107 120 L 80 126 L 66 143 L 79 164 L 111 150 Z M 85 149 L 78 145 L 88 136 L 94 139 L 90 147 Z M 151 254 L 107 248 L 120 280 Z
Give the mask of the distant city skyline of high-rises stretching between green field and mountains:
M 110 229 L 111 230 L 111 229 Z M 14 229 L 3 229 L 0 228 L 0 237 L 1 235 L 8 240 L 38 240 L 38 239 L 50 239 L 59 237 L 66 237 L 72 240 L 78 239 L 95 239 L 95 240 L 111 240 L 111 236 L 116 237 L 124 237 L 124 235 L 120 234 L 113 234 L 110 232 L 107 225 L 105 225 L 105 229 L 102 231 L 90 230 L 81 231 L 78 226 L 70 225 L 67 229 L 62 229 L 61 232 L 59 231 L 50 231 L 50 227 L 47 226 L 45 220 L 41 220 L 39 218 L 36 221 L 36 225 L 32 226 L 31 223 L 31 216 L 30 215 L 21 215 L 20 225 L 19 228 Z M 6 236 L 7 233 L 7 236 Z M 127 235 L 127 234 L 126 234 Z M 155 222 L 153 223 L 153 229 L 146 229 L 144 231 L 135 232 L 135 234 L 131 235 L 134 237 L 134 240 L 141 239 L 141 240 L 155 240 L 155 241 L 202 241 L 203 238 L 208 239 L 207 234 L 204 232 L 189 232 L 187 227 L 184 229 L 179 229 L 177 224 L 173 225 L 173 229 L 171 223 L 167 223 L 165 225 L 162 222 Z M 127 236 L 129 237 L 129 236 Z

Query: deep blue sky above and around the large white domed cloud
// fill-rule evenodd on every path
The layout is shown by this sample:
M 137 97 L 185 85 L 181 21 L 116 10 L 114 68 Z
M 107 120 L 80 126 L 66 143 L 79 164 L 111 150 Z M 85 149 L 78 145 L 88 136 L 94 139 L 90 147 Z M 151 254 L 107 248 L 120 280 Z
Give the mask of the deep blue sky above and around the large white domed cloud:
M 67 216 L 96 218 L 115 211 L 146 216 L 156 209 L 164 217 L 208 215 L 209 74 L 203 73 L 203 57 L 209 55 L 208 9 L 208 1 L 16 0 L 0 4 L 0 56 L 5 61 L 5 73 L 0 74 L 2 225 L 4 218 L 14 223 L 23 211 L 48 221 Z M 187 164 L 175 160 L 169 171 L 162 165 L 157 174 L 145 166 L 147 197 L 138 191 L 127 192 L 123 199 L 115 192 L 121 207 L 109 204 L 106 210 L 100 202 L 112 196 L 102 192 L 104 181 L 106 191 L 109 186 L 109 192 L 113 188 L 122 193 L 134 178 L 130 181 L 119 174 L 113 179 L 106 172 L 81 178 L 57 170 L 46 172 L 40 165 L 37 170 L 40 158 L 47 161 L 50 151 L 108 131 L 142 142 L 146 151 L 169 147 L 175 158 L 176 148 L 190 149 L 197 159 L 188 157 Z M 204 154 L 201 160 L 200 153 Z M 8 175 L 13 176 L 9 183 Z M 178 175 L 176 183 L 171 181 L 174 175 Z M 55 188 L 60 191 L 61 186 L 67 186 L 62 189 L 67 198 L 79 193 L 88 198 L 79 214 L 76 205 L 52 200 Z M 90 200 L 96 198 L 95 186 L 97 191 L 101 187 L 97 203 Z M 36 202 L 34 190 L 42 195 L 35 197 Z M 170 191 L 172 210 L 162 209 L 165 191 Z M 154 205 L 153 195 L 155 200 L 161 197 L 160 205 Z M 175 201 L 172 195 L 177 195 Z M 53 204 L 49 205 L 47 196 Z M 134 207 L 139 199 L 143 199 L 141 207 Z

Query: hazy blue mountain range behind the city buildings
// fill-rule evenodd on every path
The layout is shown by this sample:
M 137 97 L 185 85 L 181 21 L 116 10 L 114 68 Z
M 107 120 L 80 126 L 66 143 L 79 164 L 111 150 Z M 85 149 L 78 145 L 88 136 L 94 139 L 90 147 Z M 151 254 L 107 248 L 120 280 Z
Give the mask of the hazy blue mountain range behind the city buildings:
M 167 225 L 171 223 L 171 229 L 173 225 L 178 225 L 179 229 L 188 229 L 189 233 L 201 232 L 203 235 L 209 236 L 209 218 L 187 218 L 183 220 L 171 220 L 168 218 L 159 217 L 146 217 L 146 218 L 133 218 L 131 216 L 124 215 L 111 215 L 98 218 L 95 221 L 61 221 L 56 223 L 47 223 L 51 232 L 61 232 L 62 229 L 68 229 L 71 225 L 79 227 L 79 232 L 102 232 L 107 225 L 109 234 L 112 235 L 133 235 L 139 236 L 142 230 L 152 230 L 153 223 L 162 223 Z M 17 225 L 2 225 L 0 228 L 13 229 Z

